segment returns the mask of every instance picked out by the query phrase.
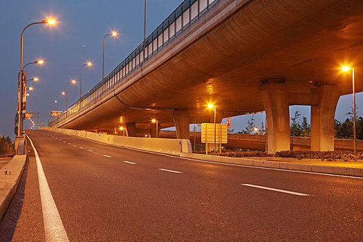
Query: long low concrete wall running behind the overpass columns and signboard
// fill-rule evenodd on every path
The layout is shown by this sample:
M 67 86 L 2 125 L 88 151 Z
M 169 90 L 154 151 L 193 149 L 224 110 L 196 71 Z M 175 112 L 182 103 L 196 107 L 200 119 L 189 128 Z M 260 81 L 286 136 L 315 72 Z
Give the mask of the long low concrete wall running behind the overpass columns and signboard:
M 162 130 L 160 138 L 176 138 L 175 131 Z M 190 142 L 194 142 L 194 132 L 190 132 Z M 196 132 L 196 143 L 201 144 L 201 132 Z M 228 133 L 228 142 L 225 147 L 235 147 L 241 149 L 266 149 L 265 136 L 245 133 Z M 310 150 L 310 137 L 290 137 L 290 149 Z M 353 151 L 353 140 L 334 139 L 335 150 Z M 363 151 L 363 140 L 357 140 L 357 150 Z

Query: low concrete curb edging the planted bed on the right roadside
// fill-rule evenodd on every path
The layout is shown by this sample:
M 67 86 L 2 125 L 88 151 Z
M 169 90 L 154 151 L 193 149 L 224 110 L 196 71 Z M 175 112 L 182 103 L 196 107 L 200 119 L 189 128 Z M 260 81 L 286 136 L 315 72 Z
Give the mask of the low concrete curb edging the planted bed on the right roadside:
M 198 153 L 180 153 L 180 157 L 193 158 L 198 160 L 207 160 L 214 162 L 222 162 L 236 165 L 248 165 L 251 167 L 268 167 L 274 169 L 291 169 L 295 171 L 309 171 L 316 173 L 335 174 L 343 176 L 359 176 L 363 177 L 362 168 L 352 167 L 332 167 L 328 165 L 310 165 L 291 162 L 277 162 L 268 160 L 254 160 L 248 158 L 230 158 L 224 156 L 208 156 Z

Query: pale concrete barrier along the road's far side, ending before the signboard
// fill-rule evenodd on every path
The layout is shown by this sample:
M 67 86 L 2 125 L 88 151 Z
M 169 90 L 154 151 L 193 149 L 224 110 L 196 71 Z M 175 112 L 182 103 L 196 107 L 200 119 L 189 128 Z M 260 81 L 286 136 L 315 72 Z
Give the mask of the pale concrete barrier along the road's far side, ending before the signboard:
M 42 127 L 41 129 L 65 133 L 71 136 L 86 138 L 109 145 L 118 145 L 122 147 L 142 149 L 145 151 L 154 151 L 158 153 L 168 153 L 175 156 L 178 156 L 181 152 L 192 153 L 192 145 L 190 145 L 189 140 L 113 136 L 103 133 L 93 133 L 72 129 L 57 129 L 53 127 Z

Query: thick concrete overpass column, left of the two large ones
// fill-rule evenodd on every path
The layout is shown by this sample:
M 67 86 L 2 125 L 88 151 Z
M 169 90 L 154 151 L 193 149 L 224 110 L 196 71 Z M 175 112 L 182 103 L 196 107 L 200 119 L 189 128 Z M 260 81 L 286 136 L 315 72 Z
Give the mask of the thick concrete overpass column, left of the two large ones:
M 290 150 L 288 86 L 268 82 L 259 87 L 268 127 L 268 153 Z

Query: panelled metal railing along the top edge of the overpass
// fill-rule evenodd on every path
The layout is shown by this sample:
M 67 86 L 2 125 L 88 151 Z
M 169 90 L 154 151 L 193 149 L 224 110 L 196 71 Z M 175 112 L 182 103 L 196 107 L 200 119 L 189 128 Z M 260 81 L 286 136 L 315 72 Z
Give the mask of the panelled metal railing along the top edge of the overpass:
M 84 94 L 80 100 L 77 100 L 66 111 L 59 116 L 50 120 L 49 125 L 53 125 L 65 120 L 68 115 L 73 115 L 81 109 L 91 104 L 93 100 L 100 97 L 103 93 L 111 89 L 115 84 L 121 82 L 127 75 L 134 71 L 145 60 L 152 57 L 158 50 L 167 45 L 180 32 L 183 32 L 193 21 L 203 15 L 218 0 L 185 0 L 176 8 L 174 12 L 165 19 L 165 21 L 154 30 L 145 40 L 145 59 L 144 59 L 144 42 L 124 59 L 109 75 L 104 77 L 96 84 L 93 89 Z

